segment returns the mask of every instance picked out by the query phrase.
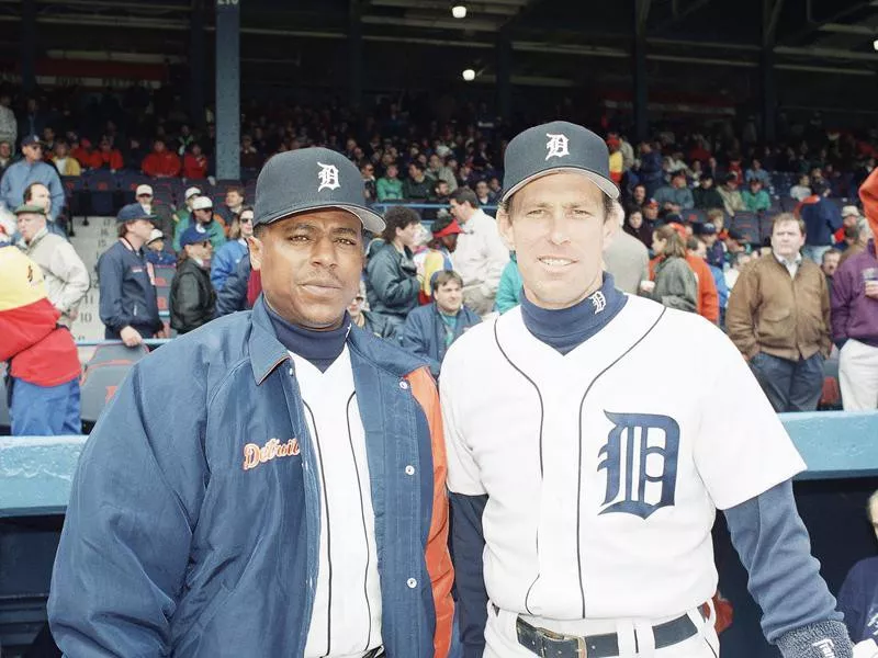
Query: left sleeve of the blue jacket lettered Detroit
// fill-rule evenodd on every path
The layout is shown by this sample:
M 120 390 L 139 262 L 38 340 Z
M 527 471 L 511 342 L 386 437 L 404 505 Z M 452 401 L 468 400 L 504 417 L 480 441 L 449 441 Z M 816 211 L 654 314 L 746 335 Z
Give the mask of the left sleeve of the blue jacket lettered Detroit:
M 66 656 L 170 655 L 169 620 L 206 481 L 206 392 L 193 383 L 192 412 L 168 415 L 161 392 L 175 377 L 173 368 L 146 377 L 135 365 L 79 460 L 48 601 Z

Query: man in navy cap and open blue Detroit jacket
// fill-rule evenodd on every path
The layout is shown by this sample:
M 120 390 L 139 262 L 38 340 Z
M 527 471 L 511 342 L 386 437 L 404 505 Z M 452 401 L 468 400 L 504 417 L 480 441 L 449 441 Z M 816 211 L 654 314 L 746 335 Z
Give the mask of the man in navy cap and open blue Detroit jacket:
M 357 167 L 259 175 L 263 294 L 138 362 L 81 456 L 52 631 L 68 656 L 443 658 L 446 457 L 424 362 L 352 326 Z

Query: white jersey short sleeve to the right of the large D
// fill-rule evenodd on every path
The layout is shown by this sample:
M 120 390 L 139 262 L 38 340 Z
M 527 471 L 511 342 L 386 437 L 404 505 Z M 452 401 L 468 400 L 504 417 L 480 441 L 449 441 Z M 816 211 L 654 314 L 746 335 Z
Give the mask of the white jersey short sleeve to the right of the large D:
M 716 362 L 701 392 L 695 463 L 713 503 L 727 510 L 806 465 L 741 353 L 709 329 L 714 337 L 705 347 Z

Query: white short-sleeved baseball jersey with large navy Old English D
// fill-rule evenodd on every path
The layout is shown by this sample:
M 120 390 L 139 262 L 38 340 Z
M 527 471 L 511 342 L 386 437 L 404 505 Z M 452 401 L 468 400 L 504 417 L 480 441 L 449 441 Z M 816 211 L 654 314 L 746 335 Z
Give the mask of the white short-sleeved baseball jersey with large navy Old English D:
M 662 617 L 717 588 L 710 530 L 804 463 L 731 341 L 629 297 L 566 355 L 520 308 L 442 364 L 452 492 L 488 495 L 499 608 L 554 620 Z

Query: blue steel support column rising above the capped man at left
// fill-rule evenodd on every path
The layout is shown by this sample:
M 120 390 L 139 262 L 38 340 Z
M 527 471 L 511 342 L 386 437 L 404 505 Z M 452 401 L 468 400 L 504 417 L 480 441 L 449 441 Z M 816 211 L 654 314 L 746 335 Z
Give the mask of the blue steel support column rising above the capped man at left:
M 240 0 L 216 1 L 216 178 L 240 178 Z

